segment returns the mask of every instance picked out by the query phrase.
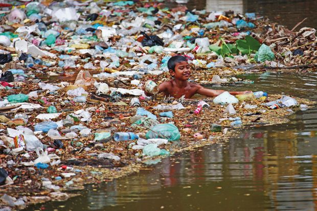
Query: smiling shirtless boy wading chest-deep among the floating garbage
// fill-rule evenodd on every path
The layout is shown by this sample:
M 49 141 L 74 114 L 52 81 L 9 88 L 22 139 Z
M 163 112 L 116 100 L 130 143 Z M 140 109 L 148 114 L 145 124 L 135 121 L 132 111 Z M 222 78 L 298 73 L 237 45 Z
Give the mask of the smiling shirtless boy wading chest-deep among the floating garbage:
M 167 97 L 180 98 L 185 95 L 185 98 L 191 98 L 196 93 L 207 97 L 215 97 L 224 92 L 224 90 L 209 89 L 199 84 L 188 82 L 191 70 L 186 58 L 183 56 L 171 57 L 167 62 L 167 67 L 173 79 L 159 85 L 160 92 L 163 92 Z M 252 91 L 229 91 L 231 95 L 249 92 Z M 145 95 L 151 96 L 148 92 L 145 92 Z

